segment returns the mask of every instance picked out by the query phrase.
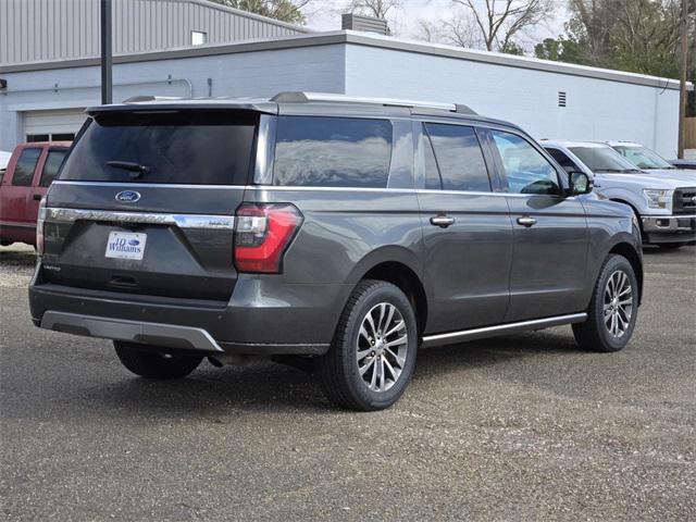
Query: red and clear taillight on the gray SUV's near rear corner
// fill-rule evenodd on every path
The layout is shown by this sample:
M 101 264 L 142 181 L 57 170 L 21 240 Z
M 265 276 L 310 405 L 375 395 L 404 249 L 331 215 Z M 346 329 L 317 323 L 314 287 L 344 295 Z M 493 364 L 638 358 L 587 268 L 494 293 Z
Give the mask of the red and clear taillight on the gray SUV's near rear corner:
M 244 203 L 235 217 L 235 266 L 239 272 L 277 274 L 283 256 L 302 224 L 286 203 Z

